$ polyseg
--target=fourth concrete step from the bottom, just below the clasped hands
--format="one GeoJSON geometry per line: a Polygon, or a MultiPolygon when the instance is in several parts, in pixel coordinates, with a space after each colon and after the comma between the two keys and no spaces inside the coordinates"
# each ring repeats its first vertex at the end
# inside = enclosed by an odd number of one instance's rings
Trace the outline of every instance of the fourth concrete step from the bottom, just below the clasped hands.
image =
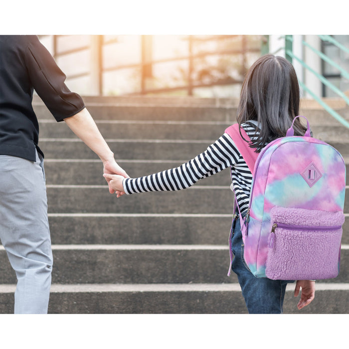
{"type": "MultiPolygon", "coordinates": [[[[204,179],[202,179],[204,180],[204,179]]],[[[344,212],[349,212],[349,186],[344,212]]],[[[226,186],[195,184],[178,191],[124,195],[107,185],[47,185],[49,213],[231,213],[232,192],[226,186]],[[103,203],[103,204],[101,204],[103,203]],[[213,204],[214,203],[214,204],[213,204]]]]}

